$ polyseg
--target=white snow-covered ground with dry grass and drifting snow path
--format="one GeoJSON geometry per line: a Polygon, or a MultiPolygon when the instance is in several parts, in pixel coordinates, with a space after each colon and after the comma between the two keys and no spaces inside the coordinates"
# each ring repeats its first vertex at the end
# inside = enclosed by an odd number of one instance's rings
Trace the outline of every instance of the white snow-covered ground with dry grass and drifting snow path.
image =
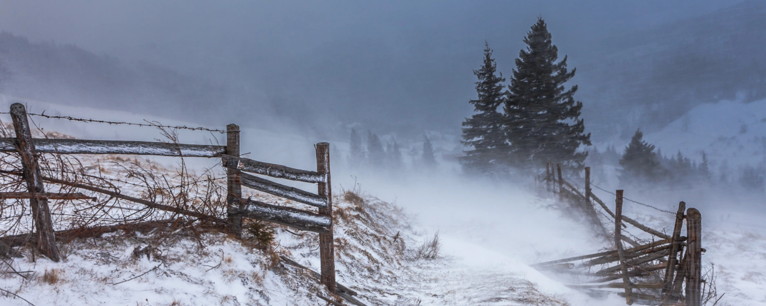
{"type": "MultiPolygon", "coordinates": [[[[7,109],[9,104],[8,99],[0,99],[0,108],[7,109]]],[[[29,112],[45,110],[51,115],[126,122],[148,119],[165,125],[195,126],[159,117],[34,101],[28,101],[28,109],[29,112]]],[[[756,112],[758,110],[742,113],[756,112]]],[[[160,138],[151,128],[35,120],[44,129],[77,138],[146,141],[160,138]]],[[[748,132],[754,132],[760,123],[750,124],[748,132]]],[[[221,135],[215,133],[181,131],[180,136],[185,143],[205,144],[214,138],[222,141],[221,135]]],[[[647,135],[648,140],[660,142],[650,137],[655,136],[647,135]]],[[[743,139],[742,142],[749,143],[743,139]]],[[[324,140],[316,135],[295,135],[289,131],[243,129],[241,143],[242,151],[250,152],[249,158],[313,168],[313,144],[324,140]]],[[[346,144],[333,144],[331,150],[341,151],[336,154],[342,157],[345,148],[346,144]]],[[[667,148],[675,149],[670,145],[667,148]]],[[[711,158],[717,158],[713,150],[708,153],[711,158]]],[[[153,159],[167,168],[176,165],[172,158],[153,159]]],[[[192,161],[191,166],[215,162],[201,159],[192,161]]],[[[529,191],[530,186],[460,178],[454,175],[448,161],[442,162],[440,170],[401,177],[357,175],[344,168],[342,161],[334,164],[336,217],[341,220],[336,227],[339,282],[358,291],[358,298],[365,304],[598,306],[624,303],[624,299],[616,296],[597,300],[582,295],[529,267],[533,262],[583,255],[607,246],[588,226],[550,208],[552,202],[538,198],[529,191]],[[359,185],[361,202],[344,197],[342,190],[356,190],[359,185]],[[345,213],[345,217],[337,216],[340,212],[345,213]],[[437,231],[442,243],[441,256],[433,260],[415,259],[417,247],[437,231]]],[[[609,199],[607,194],[599,195],[609,199]]],[[[257,196],[275,200],[263,194],[257,196]]],[[[677,203],[675,199],[659,203],[644,196],[635,194],[633,198],[653,201],[666,210],[673,210],[677,203]]],[[[635,219],[659,228],[671,224],[669,216],[662,213],[641,207],[626,207],[626,211],[633,213],[635,219]]],[[[766,233],[759,222],[760,216],[725,209],[702,210],[702,214],[704,241],[710,244],[705,246],[708,252],[703,259],[715,263],[719,294],[726,293],[719,305],[766,305],[766,265],[763,264],[766,233]]],[[[289,265],[278,265],[273,253],[252,249],[247,243],[208,233],[202,236],[201,245],[193,237],[179,237],[166,242],[155,256],[136,258],[133,250],[146,246],[140,238],[73,242],[65,246],[67,258],[61,263],[40,258],[31,262],[25,251],[26,257],[15,259],[13,265],[17,271],[34,271],[34,276],[24,280],[12,273],[2,275],[0,288],[36,305],[325,304],[316,297],[317,294],[327,296],[325,291],[308,275],[289,265]],[[45,282],[45,272],[50,274],[54,269],[61,272],[61,281],[45,282]],[[123,282],[149,270],[152,271],[146,275],[123,282]],[[116,284],[118,282],[123,283],[116,284]]],[[[279,246],[274,252],[289,255],[315,270],[319,267],[316,235],[295,236],[280,229],[277,243],[279,246]]],[[[26,304],[2,294],[0,301],[4,305],[26,304]]]]}

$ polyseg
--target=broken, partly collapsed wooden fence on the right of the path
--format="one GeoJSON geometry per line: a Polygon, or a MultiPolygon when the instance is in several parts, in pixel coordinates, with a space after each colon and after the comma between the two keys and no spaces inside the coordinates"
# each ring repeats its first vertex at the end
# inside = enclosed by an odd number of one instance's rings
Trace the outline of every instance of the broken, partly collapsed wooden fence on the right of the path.
{"type": "Polygon", "coordinates": [[[591,295],[607,295],[617,288],[623,291],[618,295],[626,298],[626,304],[687,305],[702,304],[702,215],[699,210],[689,208],[680,202],[675,213],[673,233],[667,235],[623,214],[624,191],[616,190],[614,212],[591,190],[591,168],[585,168],[584,190],[569,183],[561,175],[561,165],[556,165],[558,178],[552,171],[552,164],[546,166],[545,189],[558,194],[558,199],[566,200],[584,211],[586,216],[595,216],[591,222],[604,228],[596,215],[599,208],[607,220],[614,221],[614,233],[604,231],[605,236],[613,239],[614,249],[606,252],[540,262],[532,265],[535,269],[576,275],[584,282],[568,285],[587,291],[591,295]],[[558,188],[557,188],[558,187],[558,188]],[[558,190],[557,190],[558,189],[558,190]],[[596,207],[593,200],[599,205],[596,207]],[[684,213],[686,211],[686,214],[684,213]],[[686,236],[681,236],[686,220],[686,236]],[[653,236],[651,243],[638,243],[624,235],[623,229],[635,226],[653,236]],[[624,249],[623,243],[632,247],[624,249]],[[593,272],[596,267],[600,267],[593,272]],[[615,282],[616,281],[616,282],[615,282]]]}

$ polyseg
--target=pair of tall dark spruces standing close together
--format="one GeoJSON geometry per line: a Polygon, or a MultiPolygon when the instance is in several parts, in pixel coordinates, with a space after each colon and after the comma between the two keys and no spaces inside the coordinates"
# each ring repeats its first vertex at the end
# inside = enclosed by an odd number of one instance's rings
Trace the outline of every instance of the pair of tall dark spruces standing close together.
{"type": "Polygon", "coordinates": [[[477,99],[470,100],[474,114],[463,122],[465,156],[460,163],[468,172],[535,172],[545,163],[569,170],[583,167],[591,145],[580,119],[583,104],[574,98],[578,87],[564,86],[575,69],[567,57],[558,60],[558,48],[542,18],[524,37],[516,68],[508,78],[497,71],[493,50],[485,43],[483,65],[473,73],[477,99]]]}

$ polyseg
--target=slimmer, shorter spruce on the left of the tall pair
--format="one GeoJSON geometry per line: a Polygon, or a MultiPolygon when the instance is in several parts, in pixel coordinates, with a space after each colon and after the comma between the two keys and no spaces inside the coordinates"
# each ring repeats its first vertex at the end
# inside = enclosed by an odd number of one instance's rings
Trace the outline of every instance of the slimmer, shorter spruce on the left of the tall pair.
{"type": "Polygon", "coordinates": [[[469,148],[465,156],[460,157],[460,164],[467,171],[486,173],[496,169],[504,162],[506,155],[506,135],[502,128],[502,113],[498,107],[504,102],[505,96],[502,83],[506,81],[502,73],[497,73],[497,64],[492,58],[493,50],[484,42],[484,63],[473,74],[479,79],[476,82],[477,99],[470,100],[475,112],[471,118],[463,121],[463,140],[460,141],[469,148]]]}

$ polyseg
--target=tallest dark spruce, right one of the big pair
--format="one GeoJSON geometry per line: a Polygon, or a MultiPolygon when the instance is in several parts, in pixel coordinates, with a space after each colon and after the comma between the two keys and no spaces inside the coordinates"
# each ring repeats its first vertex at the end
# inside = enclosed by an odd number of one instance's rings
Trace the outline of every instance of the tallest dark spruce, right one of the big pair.
{"type": "Polygon", "coordinates": [[[577,149],[591,145],[591,134],[584,134],[585,125],[579,119],[582,103],[574,98],[578,86],[564,87],[575,77],[575,69],[567,70],[567,57],[556,63],[558,48],[542,18],[532,25],[524,42],[527,47],[516,59],[503,108],[509,163],[522,169],[542,168],[547,161],[582,168],[588,152],[577,149]]]}

